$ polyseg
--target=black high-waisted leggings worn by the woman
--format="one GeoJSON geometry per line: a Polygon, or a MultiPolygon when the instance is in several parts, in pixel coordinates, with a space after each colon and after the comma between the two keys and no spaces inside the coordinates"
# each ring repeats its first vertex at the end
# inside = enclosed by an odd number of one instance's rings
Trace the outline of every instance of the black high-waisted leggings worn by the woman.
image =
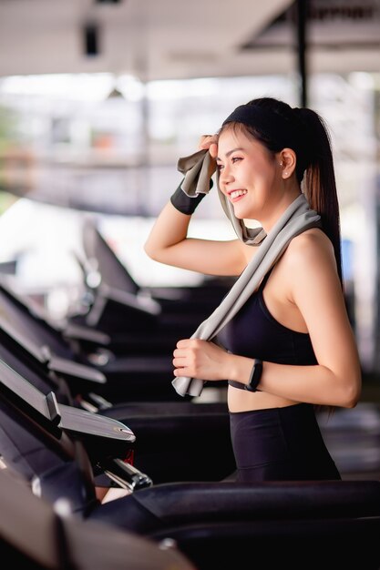
{"type": "Polygon", "coordinates": [[[230,412],[237,481],[341,479],[312,404],[230,412]]]}

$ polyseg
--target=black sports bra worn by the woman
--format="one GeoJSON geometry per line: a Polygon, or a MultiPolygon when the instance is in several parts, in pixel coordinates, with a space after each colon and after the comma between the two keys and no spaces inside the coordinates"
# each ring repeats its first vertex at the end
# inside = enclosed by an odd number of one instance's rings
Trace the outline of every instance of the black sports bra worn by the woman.
{"type": "Polygon", "coordinates": [[[271,271],[265,275],[259,289],[219,332],[217,340],[233,354],[249,358],[278,364],[316,364],[310,335],[283,326],[265,305],[262,291],[271,271]]]}

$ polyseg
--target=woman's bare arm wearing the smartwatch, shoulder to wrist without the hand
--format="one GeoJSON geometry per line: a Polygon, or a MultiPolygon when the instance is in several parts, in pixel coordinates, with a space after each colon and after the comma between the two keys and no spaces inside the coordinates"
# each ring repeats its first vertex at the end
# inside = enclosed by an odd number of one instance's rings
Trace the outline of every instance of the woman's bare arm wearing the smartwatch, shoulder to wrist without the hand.
{"type": "MultiPolygon", "coordinates": [[[[283,286],[303,315],[318,364],[264,362],[259,389],[296,402],[354,407],[361,393],[361,366],[331,242],[322,232],[305,232],[291,242],[282,270],[283,286]]],[[[247,382],[247,362],[234,365],[232,373],[247,382]]]]}

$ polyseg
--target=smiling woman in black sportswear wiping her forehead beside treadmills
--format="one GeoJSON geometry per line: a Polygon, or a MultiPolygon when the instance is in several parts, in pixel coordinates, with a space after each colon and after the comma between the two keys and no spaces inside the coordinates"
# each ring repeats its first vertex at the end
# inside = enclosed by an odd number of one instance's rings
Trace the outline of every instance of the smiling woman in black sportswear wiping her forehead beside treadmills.
{"type": "MultiPolygon", "coordinates": [[[[237,219],[258,220],[268,234],[303,193],[322,227],[290,241],[217,343],[178,341],[174,375],[229,380],[239,481],[339,479],[315,407],[354,407],[361,369],[344,304],[334,164],[323,119],[308,108],[255,99],[237,107],[218,135],[201,137],[200,149],[216,162],[220,191],[237,219]]],[[[258,248],[240,239],[188,238],[199,202],[178,188],[146,252],[179,268],[239,276],[258,248]]]]}

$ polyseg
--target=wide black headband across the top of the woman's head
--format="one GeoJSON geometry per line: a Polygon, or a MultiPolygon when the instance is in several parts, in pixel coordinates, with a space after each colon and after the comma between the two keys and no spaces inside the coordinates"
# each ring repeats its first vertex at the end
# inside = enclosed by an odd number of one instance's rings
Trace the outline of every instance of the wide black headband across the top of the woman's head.
{"type": "Polygon", "coordinates": [[[222,127],[228,123],[242,123],[247,127],[253,127],[264,138],[276,142],[279,150],[282,148],[293,148],[297,152],[302,148],[298,121],[295,116],[294,124],[291,124],[282,115],[273,112],[267,107],[241,105],[236,107],[231,115],[223,121],[222,127]]]}

